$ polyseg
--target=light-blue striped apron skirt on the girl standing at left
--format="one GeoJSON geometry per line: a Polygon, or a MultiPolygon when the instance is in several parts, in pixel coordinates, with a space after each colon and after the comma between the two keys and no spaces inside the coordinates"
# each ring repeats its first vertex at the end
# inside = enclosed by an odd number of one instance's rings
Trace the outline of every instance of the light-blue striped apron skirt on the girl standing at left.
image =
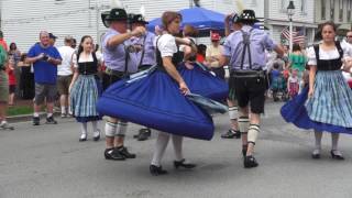
{"type": "Polygon", "coordinates": [[[69,95],[70,109],[78,122],[101,120],[96,107],[101,92],[101,84],[95,75],[78,76],[69,95]]]}

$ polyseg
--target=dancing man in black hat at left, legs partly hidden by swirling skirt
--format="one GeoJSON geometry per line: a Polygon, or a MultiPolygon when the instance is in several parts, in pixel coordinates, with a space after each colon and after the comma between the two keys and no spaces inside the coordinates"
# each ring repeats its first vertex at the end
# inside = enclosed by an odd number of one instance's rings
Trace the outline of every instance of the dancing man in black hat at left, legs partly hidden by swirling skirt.
{"type": "MultiPolygon", "coordinates": [[[[103,59],[106,72],[103,74],[103,89],[120,80],[129,74],[138,72],[135,53],[130,53],[132,36],[145,34],[145,29],[139,26],[133,31],[128,31],[128,14],[124,9],[114,8],[110,12],[101,14],[103,24],[109,28],[102,37],[103,59]]],[[[118,118],[109,118],[106,123],[105,157],[107,160],[121,161],[135,158],[135,154],[130,153],[124,146],[124,134],[128,122],[118,118]]]]}

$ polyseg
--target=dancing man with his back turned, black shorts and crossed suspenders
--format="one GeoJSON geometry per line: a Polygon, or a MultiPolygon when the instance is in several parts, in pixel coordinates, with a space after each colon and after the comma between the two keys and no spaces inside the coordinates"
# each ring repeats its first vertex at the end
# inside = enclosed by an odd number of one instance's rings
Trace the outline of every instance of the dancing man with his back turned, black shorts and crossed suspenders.
{"type": "Polygon", "coordinates": [[[258,165],[253,152],[267,89],[264,50],[274,50],[279,55],[284,51],[264,31],[252,28],[257,22],[253,10],[243,10],[239,20],[243,26],[227,37],[221,65],[229,64],[231,68],[230,81],[234,84],[240,107],[243,163],[245,168],[251,168],[258,165]]]}

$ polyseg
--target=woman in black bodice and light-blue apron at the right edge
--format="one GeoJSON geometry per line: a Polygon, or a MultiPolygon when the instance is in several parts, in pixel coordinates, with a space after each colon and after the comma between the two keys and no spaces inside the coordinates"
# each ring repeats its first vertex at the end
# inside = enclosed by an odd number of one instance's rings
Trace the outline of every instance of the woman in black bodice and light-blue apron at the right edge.
{"type": "MultiPolygon", "coordinates": [[[[282,108],[283,118],[302,129],[314,129],[316,147],[312,158],[320,158],[322,131],[331,133],[331,157],[344,160],[338,148],[340,133],[352,134],[352,91],[343,79],[341,67],[349,48],[334,41],[336,25],[321,25],[322,43],[307,52],[309,85],[282,108]]],[[[344,69],[349,63],[345,62],[344,69]]]]}

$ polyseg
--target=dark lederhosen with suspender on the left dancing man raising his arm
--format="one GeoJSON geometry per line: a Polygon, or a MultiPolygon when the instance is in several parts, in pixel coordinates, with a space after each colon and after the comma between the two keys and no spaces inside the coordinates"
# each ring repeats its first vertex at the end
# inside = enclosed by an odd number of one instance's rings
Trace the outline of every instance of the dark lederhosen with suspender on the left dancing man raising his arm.
{"type": "Polygon", "coordinates": [[[119,81],[120,79],[129,76],[128,73],[128,64],[130,58],[130,52],[128,47],[124,44],[121,44],[124,46],[124,72],[120,70],[113,70],[107,67],[106,72],[102,74],[102,88],[106,90],[110,85],[114,84],[116,81],[119,81]]]}

